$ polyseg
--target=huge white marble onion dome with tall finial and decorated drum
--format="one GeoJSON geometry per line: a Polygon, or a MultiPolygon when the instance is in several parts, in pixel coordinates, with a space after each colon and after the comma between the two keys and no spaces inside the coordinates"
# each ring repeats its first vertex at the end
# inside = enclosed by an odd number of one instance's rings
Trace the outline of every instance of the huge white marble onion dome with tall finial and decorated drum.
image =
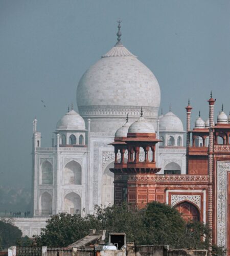
{"type": "MultiPolygon", "coordinates": [[[[120,28],[119,28],[120,32],[120,28]]],[[[126,114],[133,121],[144,116],[156,122],[159,84],[153,73],[120,42],[91,66],[77,88],[79,114],[91,119],[91,131],[114,132],[126,114]],[[109,130],[109,131],[108,131],[109,130]]]]}

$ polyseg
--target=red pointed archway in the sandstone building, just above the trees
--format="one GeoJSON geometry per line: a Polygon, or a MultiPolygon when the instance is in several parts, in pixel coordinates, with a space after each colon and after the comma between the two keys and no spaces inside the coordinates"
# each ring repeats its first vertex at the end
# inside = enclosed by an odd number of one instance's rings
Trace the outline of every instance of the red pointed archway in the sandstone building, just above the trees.
{"type": "Polygon", "coordinates": [[[200,221],[200,212],[196,205],[191,202],[183,201],[174,206],[182,215],[182,218],[189,221],[200,221]]]}

